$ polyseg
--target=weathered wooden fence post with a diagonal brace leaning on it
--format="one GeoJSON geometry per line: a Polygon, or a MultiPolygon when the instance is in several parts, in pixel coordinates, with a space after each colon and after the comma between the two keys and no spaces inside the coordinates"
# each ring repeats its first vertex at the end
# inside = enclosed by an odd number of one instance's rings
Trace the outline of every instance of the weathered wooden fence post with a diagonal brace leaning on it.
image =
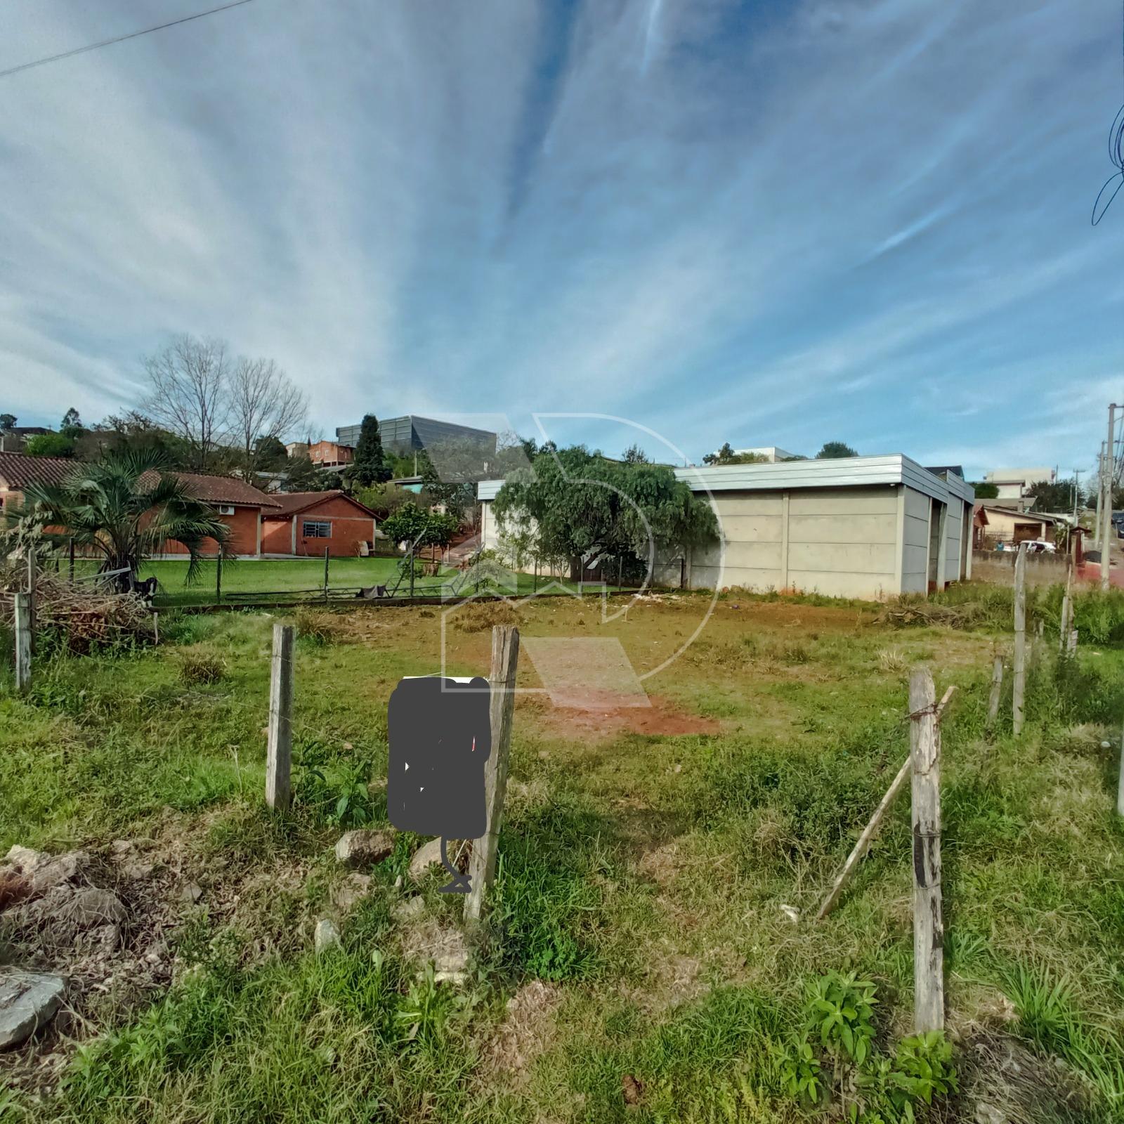
{"type": "Polygon", "coordinates": [[[941,917],[941,732],[933,677],[909,677],[913,762],[914,1031],[944,1030],[944,923],[941,917]]]}

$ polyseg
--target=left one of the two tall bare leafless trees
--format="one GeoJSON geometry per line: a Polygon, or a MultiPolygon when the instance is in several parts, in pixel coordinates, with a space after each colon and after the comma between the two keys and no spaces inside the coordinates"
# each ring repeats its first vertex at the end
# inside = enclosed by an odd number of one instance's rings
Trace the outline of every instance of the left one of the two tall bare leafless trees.
{"type": "Polygon", "coordinates": [[[149,391],[143,409],[187,442],[192,466],[206,471],[230,414],[230,368],[221,339],[176,336],[144,361],[149,391]]]}

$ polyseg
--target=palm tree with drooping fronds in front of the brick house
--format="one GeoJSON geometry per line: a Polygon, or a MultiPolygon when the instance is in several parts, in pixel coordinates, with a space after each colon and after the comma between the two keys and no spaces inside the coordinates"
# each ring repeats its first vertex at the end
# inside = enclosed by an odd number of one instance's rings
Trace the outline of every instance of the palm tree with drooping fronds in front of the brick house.
{"type": "Polygon", "coordinates": [[[229,527],[165,468],[155,450],[125,450],[76,464],[61,484],[27,486],[20,523],[58,528],[55,533],[75,546],[99,552],[102,572],[127,568],[117,580],[121,589],[132,588],[149,554],[164,543],[180,543],[188,551],[188,581],[193,581],[203,543],[210,538],[225,553],[229,527]]]}

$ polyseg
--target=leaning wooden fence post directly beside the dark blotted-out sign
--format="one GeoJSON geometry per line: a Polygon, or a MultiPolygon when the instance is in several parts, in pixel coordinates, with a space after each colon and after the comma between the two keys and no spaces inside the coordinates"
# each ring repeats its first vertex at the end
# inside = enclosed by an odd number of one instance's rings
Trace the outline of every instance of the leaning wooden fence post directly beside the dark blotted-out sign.
{"type": "Polygon", "coordinates": [[[515,711],[515,674],[519,664],[519,629],[511,625],[492,628],[491,754],[484,764],[484,807],[488,827],[472,847],[469,874],[472,888],[464,899],[464,919],[480,921],[484,892],[496,877],[499,826],[507,792],[507,762],[511,752],[511,722],[515,711]]]}

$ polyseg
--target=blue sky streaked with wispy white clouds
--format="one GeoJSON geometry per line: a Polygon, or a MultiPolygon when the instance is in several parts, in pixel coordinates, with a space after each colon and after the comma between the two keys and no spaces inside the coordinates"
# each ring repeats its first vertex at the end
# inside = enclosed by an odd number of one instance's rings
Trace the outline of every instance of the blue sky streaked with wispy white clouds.
{"type": "MultiPolygon", "coordinates": [[[[215,2],[3,0],[0,70],[215,2]]],[[[1109,0],[253,0],[0,79],[0,411],[135,406],[187,332],[326,435],[1088,471],[1122,99],[1109,0]]]]}

